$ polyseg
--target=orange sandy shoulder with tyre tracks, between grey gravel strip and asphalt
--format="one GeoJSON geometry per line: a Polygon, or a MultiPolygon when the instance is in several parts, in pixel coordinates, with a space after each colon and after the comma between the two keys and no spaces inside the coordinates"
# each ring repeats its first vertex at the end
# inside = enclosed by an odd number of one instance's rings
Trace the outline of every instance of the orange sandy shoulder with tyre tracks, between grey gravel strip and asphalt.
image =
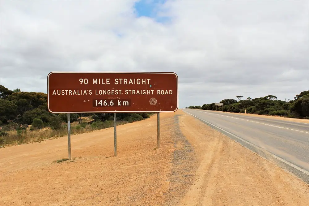
{"type": "Polygon", "coordinates": [[[184,113],[181,131],[199,167],[181,205],[308,205],[309,186],[184,113]]]}

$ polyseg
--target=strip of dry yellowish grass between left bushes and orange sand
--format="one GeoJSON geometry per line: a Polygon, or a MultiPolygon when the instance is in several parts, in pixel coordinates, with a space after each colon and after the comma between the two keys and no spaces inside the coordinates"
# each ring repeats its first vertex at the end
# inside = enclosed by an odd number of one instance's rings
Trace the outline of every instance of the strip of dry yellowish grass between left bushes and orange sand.
{"type": "MultiPolygon", "coordinates": [[[[117,121],[117,125],[122,125],[129,123],[128,121],[117,121]]],[[[100,130],[108,127],[113,127],[113,121],[106,122],[94,122],[92,124],[87,124],[87,122],[82,122],[78,124],[78,122],[71,123],[71,134],[81,134],[85,132],[91,132],[95,130],[100,130]]],[[[9,146],[16,144],[27,144],[31,142],[44,141],[44,139],[52,139],[58,138],[68,135],[67,124],[63,124],[62,128],[59,130],[53,130],[51,128],[45,127],[42,130],[33,130],[29,131],[22,130],[21,131],[7,131],[6,136],[0,136],[0,145],[9,146]]]]}

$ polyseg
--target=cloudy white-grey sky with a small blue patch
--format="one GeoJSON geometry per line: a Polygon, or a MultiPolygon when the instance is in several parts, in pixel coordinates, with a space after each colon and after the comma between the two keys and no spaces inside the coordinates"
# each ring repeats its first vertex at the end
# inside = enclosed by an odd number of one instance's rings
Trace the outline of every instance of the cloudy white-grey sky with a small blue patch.
{"type": "Polygon", "coordinates": [[[175,72],[179,108],[309,90],[309,1],[0,2],[0,85],[51,71],[175,72]]]}

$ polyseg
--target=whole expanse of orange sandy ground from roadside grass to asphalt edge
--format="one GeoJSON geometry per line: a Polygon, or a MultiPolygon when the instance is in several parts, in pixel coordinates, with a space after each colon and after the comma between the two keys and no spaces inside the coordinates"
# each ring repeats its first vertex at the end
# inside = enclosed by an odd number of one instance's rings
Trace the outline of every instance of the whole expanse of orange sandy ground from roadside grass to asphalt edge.
{"type": "Polygon", "coordinates": [[[0,205],[309,205],[309,186],[181,110],[0,149],[0,205]]]}

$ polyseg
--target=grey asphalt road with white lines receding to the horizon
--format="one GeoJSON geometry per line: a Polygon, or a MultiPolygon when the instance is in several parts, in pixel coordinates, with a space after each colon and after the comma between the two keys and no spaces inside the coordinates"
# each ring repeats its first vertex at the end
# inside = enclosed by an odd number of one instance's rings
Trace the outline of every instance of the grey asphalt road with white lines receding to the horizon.
{"type": "Polygon", "coordinates": [[[208,110],[183,111],[232,138],[269,152],[308,178],[309,124],[208,110]]]}

